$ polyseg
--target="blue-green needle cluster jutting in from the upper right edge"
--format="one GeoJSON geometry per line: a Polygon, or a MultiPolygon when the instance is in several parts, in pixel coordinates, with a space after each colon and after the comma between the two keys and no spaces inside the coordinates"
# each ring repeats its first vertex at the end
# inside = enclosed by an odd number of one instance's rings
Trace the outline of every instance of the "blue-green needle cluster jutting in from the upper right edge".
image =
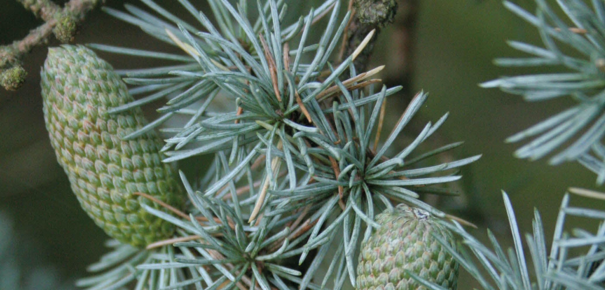
{"type": "Polygon", "coordinates": [[[508,67],[555,67],[558,73],[503,76],[484,82],[482,87],[498,87],[537,102],[570,97],[574,106],[506,139],[531,142],[515,151],[519,158],[540,159],[550,153],[553,165],[578,161],[605,182],[605,4],[600,0],[558,0],[558,8],[567,16],[561,19],[545,0],[535,0],[530,13],[505,1],[508,10],[536,27],[543,47],[509,41],[512,48],[529,54],[526,58],[500,58],[497,65],[508,67]],[[569,50],[571,48],[571,50],[569,50]],[[572,51],[567,53],[564,51],[572,51]],[[567,143],[571,143],[566,145],[567,143]]]}

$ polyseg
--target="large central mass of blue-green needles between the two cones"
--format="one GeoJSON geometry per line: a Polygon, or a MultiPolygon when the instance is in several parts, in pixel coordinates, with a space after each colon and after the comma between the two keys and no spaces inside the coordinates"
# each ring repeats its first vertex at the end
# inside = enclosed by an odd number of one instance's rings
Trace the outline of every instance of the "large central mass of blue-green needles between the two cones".
{"type": "MultiPolygon", "coordinates": [[[[339,15],[340,1],[325,1],[290,25],[283,23],[288,7],[281,1],[234,5],[214,0],[208,2],[211,11],[206,15],[191,2],[179,0],[197,24],[182,21],[151,0],[142,2],[145,9],[127,4],[126,12],[105,11],[183,53],[88,45],[128,57],[174,62],[117,70],[131,85],[129,90],[124,91],[119,82],[100,88],[136,97],[111,102],[103,117],[125,116],[128,123],[128,116],[142,105],[165,102],[157,108],[157,119],[119,130],[120,140],[115,141],[129,144],[159,130],[166,142],[159,148],[163,162],[199,155],[212,156],[212,162],[187,174],[197,176],[195,180],[180,173],[188,197],[185,208],[153,193],[137,193],[140,209],[174,225],[174,234],[144,239],[143,250],[114,236],[118,241],[108,243],[113,251],[90,267],[99,274],[80,280],[80,286],[341,289],[347,280],[355,286],[359,244],[380,226],[374,221],[376,209],[406,202],[444,217],[419,200],[419,193],[451,194],[440,183],[459,179],[456,168],[480,157],[431,164],[431,156],[460,142],[418,152],[420,143],[448,114],[429,122],[410,143],[393,146],[427,99],[424,92],[416,94],[381,142],[384,105],[401,87],[387,88],[373,78],[382,67],[356,71],[353,65],[374,31],[352,54],[335,60],[351,17],[350,12],[339,15]],[[327,23],[318,30],[323,32],[317,42],[311,42],[310,31],[322,18],[327,23]],[[178,124],[175,119],[185,121],[178,124]],[[324,273],[318,271],[322,263],[327,265],[324,273]]],[[[75,50],[74,58],[80,54],[93,58],[86,48],[64,47],[53,48],[49,59],[62,50],[75,50]]],[[[89,71],[94,68],[85,65],[76,70],[88,76],[98,74],[89,71]]],[[[113,80],[113,70],[103,69],[100,77],[111,75],[113,80]]],[[[59,82],[54,75],[47,79],[43,87],[59,82]]],[[[77,77],[69,83],[91,85],[77,77]]],[[[64,86],[56,87],[57,94],[65,93],[60,91],[64,86]]],[[[47,110],[51,108],[50,104],[47,110]]],[[[49,123],[65,125],[60,115],[50,114],[56,120],[49,123]]],[[[57,143],[57,151],[68,150],[68,145],[57,143]]],[[[77,178],[71,182],[80,189],[77,178]]],[[[111,226],[107,231],[113,232],[111,226]]]]}

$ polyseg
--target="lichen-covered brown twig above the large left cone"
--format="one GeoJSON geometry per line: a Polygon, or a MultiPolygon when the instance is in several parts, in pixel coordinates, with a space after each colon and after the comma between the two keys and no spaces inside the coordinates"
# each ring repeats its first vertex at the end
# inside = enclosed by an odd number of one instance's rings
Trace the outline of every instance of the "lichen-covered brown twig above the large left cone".
{"type": "Polygon", "coordinates": [[[36,45],[48,41],[51,33],[60,42],[73,41],[77,27],[86,13],[104,0],[71,0],[60,8],[50,0],[17,0],[44,24],[34,28],[23,39],[0,46],[0,85],[6,90],[16,90],[25,81],[27,72],[21,67],[25,53],[36,45]]]}

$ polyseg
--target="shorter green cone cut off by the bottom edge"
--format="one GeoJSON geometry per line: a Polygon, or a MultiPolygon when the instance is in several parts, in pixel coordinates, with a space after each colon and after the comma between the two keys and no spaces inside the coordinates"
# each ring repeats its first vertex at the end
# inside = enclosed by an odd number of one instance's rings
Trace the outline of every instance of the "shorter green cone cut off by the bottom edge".
{"type": "Polygon", "coordinates": [[[427,211],[400,204],[376,216],[381,225],[362,246],[358,290],[426,290],[405,270],[447,289],[456,289],[458,263],[433,234],[456,248],[451,232],[427,211]]]}

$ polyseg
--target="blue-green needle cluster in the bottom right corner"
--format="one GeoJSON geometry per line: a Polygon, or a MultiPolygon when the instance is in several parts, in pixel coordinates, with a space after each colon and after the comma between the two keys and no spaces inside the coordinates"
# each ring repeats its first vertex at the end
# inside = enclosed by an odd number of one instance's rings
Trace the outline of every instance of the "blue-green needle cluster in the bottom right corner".
{"type": "MultiPolygon", "coordinates": [[[[595,204],[605,200],[604,193],[587,189],[570,188],[569,193],[594,199],[595,204]]],[[[454,231],[464,248],[457,251],[441,240],[460,265],[486,290],[602,290],[605,289],[605,211],[601,208],[578,208],[570,205],[566,193],[554,228],[552,245],[546,245],[546,237],[540,213],[534,209],[533,232],[525,234],[525,246],[508,194],[502,192],[514,247],[504,249],[494,234],[488,230],[491,248],[483,245],[457,222],[443,225],[454,231]],[[566,219],[585,219],[584,225],[598,222],[596,230],[569,229],[566,219]],[[526,249],[529,249],[529,258],[526,249]],[[459,253],[460,252],[460,253],[459,253]],[[470,254],[469,254],[470,252],[470,254]],[[472,254],[472,255],[471,255],[472,254]]],[[[437,239],[440,239],[437,237],[437,239]]],[[[414,275],[414,274],[411,274],[414,275]]],[[[446,290],[439,285],[419,279],[431,290],[446,290]]]]}

